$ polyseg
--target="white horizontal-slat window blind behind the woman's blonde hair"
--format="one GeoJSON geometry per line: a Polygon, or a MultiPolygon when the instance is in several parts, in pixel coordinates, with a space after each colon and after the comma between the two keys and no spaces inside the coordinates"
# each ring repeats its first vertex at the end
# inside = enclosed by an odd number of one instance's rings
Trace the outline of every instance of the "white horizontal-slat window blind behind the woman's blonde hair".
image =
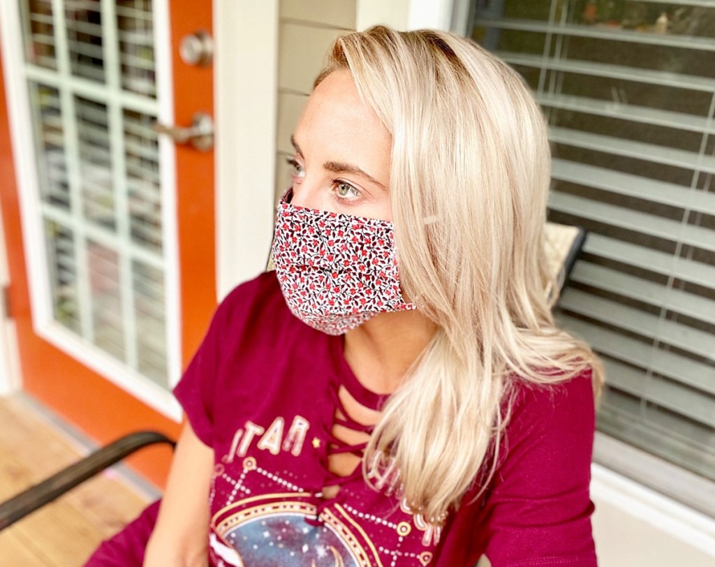
{"type": "Polygon", "coordinates": [[[715,1],[478,0],[470,21],[546,114],[550,220],[588,230],[557,316],[606,366],[598,428],[715,480],[715,1]]]}

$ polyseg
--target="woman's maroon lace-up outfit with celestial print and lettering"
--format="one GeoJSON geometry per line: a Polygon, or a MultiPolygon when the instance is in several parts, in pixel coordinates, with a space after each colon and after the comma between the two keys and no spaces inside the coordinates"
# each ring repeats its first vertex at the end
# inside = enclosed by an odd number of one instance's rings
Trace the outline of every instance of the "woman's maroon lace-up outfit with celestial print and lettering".
{"type": "MultiPolygon", "coordinates": [[[[384,401],[352,374],[342,340],[291,315],[272,272],[218,308],[174,390],[215,453],[210,565],[455,567],[482,554],[493,567],[596,565],[590,373],[548,387],[516,380],[493,480],[480,498],[475,486],[436,531],[395,495],[370,488],[359,468],[335,498],[321,495],[335,482],[327,455],[338,390],[370,408],[384,401]]],[[[154,516],[152,508],[89,565],[132,565],[102,557],[134,553],[122,551],[122,538],[143,555],[137,532],[154,516]]]]}

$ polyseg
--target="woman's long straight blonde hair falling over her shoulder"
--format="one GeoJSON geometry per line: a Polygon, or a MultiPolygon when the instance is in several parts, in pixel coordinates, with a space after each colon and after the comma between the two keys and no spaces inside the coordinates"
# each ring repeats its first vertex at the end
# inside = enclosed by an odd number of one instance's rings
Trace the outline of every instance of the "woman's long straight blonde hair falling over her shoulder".
{"type": "Polygon", "coordinates": [[[381,484],[398,471],[408,508],[440,523],[476,478],[485,488],[514,380],[557,383],[590,367],[598,391],[601,366],[551,315],[551,157],[521,77],[459,36],[384,26],[337,39],[316,84],[337,69],[392,135],[400,280],[438,325],[383,408],[363,471],[381,484]]]}

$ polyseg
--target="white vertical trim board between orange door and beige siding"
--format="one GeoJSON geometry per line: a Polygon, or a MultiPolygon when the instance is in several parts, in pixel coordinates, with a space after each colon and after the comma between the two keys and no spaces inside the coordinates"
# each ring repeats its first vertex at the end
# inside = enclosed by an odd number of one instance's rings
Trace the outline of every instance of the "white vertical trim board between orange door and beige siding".
{"type": "Polygon", "coordinates": [[[219,299],[265,270],[272,239],[278,1],[214,0],[219,299]]]}

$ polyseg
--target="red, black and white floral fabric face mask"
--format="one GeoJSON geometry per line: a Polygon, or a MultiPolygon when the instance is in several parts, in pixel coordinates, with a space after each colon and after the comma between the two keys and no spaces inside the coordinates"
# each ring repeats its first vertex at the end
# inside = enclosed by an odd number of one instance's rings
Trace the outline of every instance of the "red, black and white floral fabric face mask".
{"type": "Polygon", "coordinates": [[[293,315],[342,335],[374,315],[414,309],[400,292],[393,224],[278,205],[273,261],[293,315]]]}

